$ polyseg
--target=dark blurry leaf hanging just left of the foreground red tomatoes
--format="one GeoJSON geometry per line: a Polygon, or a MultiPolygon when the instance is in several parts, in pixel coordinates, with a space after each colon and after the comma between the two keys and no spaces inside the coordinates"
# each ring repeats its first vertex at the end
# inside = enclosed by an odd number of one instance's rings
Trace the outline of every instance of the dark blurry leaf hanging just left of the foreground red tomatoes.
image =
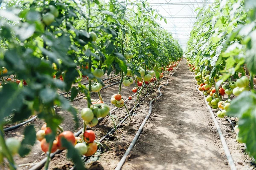
{"type": "Polygon", "coordinates": [[[36,132],[33,125],[29,125],[24,130],[24,138],[21,142],[21,147],[19,150],[19,155],[21,157],[26,156],[30,150],[31,146],[35,144],[36,132]]]}

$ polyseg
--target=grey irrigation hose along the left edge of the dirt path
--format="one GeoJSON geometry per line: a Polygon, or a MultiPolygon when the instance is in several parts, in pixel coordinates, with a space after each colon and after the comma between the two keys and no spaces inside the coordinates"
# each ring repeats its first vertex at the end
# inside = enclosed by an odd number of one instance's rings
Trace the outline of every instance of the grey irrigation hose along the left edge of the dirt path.
{"type": "MultiPolygon", "coordinates": [[[[177,68],[175,69],[175,71],[172,73],[172,75],[176,72],[177,69],[178,69],[178,66],[177,66],[177,68]]],[[[171,77],[172,77],[172,75],[171,75],[171,77]]],[[[143,121],[142,124],[140,125],[139,130],[137,131],[136,135],[134,136],[134,138],[133,138],[133,140],[132,140],[130,146],[129,146],[128,149],[126,150],[124,156],[122,157],[122,159],[121,159],[121,160],[119,161],[119,163],[117,164],[115,170],[121,170],[123,164],[125,163],[125,160],[126,160],[127,156],[130,154],[132,148],[134,147],[136,141],[138,140],[138,138],[139,138],[139,136],[140,136],[140,133],[141,133],[142,130],[143,130],[143,126],[145,125],[146,121],[148,121],[148,118],[149,118],[150,115],[151,115],[151,112],[152,112],[152,103],[153,103],[157,98],[160,98],[160,97],[162,96],[162,92],[161,92],[160,89],[161,89],[161,87],[168,85],[170,79],[171,79],[171,78],[169,78],[169,79],[167,80],[167,83],[166,83],[166,84],[164,84],[164,85],[158,87],[159,95],[158,95],[156,98],[154,98],[153,100],[150,101],[150,103],[149,103],[148,115],[145,117],[144,121],[143,121]]]]}

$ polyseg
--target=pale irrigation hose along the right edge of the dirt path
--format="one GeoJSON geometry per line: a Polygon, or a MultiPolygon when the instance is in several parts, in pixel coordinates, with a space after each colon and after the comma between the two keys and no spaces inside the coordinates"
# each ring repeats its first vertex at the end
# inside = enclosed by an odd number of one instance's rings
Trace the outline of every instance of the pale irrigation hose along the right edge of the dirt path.
{"type": "MultiPolygon", "coordinates": [[[[204,94],[198,89],[198,86],[196,86],[195,89],[196,89],[198,92],[200,92],[201,95],[204,96],[204,94]]],[[[207,108],[209,109],[209,112],[210,112],[211,115],[212,115],[212,119],[213,119],[213,121],[214,121],[215,127],[216,127],[216,129],[218,130],[218,134],[219,134],[219,136],[220,136],[221,143],[222,143],[222,146],[223,146],[223,148],[224,148],[224,152],[225,152],[225,154],[226,154],[226,156],[227,156],[227,161],[228,161],[228,164],[230,165],[230,169],[231,169],[231,170],[236,170],[236,165],[235,165],[234,160],[233,160],[233,158],[232,158],[232,156],[231,156],[231,154],[230,154],[230,151],[229,151],[229,149],[228,149],[228,146],[227,146],[227,143],[226,143],[226,141],[225,141],[224,135],[223,135],[223,133],[222,133],[222,131],[221,131],[221,128],[220,128],[220,126],[219,126],[219,124],[218,124],[217,119],[215,118],[214,113],[212,112],[211,107],[210,107],[210,106],[208,105],[208,103],[207,103],[207,100],[206,100],[206,97],[205,97],[205,96],[204,96],[204,101],[205,101],[205,104],[207,105],[207,108]]]]}

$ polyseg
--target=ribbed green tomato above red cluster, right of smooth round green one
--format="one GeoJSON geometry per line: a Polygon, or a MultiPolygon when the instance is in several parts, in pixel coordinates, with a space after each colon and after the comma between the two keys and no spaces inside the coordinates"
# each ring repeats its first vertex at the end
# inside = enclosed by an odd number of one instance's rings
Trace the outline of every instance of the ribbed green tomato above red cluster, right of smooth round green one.
{"type": "Polygon", "coordinates": [[[109,114],[110,107],[108,104],[100,103],[93,104],[90,109],[93,110],[93,114],[96,118],[106,117],[109,114]]]}

